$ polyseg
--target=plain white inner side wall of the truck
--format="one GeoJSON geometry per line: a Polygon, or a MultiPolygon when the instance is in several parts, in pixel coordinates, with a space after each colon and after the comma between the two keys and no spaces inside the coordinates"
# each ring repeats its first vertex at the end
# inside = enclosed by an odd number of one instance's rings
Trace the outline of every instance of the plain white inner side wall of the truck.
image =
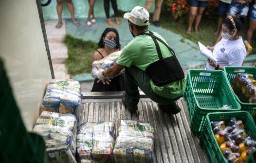
{"type": "Polygon", "coordinates": [[[30,131],[51,79],[36,0],[0,0],[0,58],[30,131]]]}

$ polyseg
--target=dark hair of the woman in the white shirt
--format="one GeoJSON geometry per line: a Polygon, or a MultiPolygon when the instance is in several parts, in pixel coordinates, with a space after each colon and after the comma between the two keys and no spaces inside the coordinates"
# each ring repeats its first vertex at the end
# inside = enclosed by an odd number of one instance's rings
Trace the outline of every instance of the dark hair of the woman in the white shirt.
{"type": "MultiPolygon", "coordinates": [[[[232,16],[232,17],[238,30],[237,35],[240,35],[242,26],[246,22],[246,17],[245,16],[232,16]]],[[[229,18],[224,19],[222,24],[225,25],[229,29],[229,31],[232,31],[233,29],[235,29],[229,18]]]]}

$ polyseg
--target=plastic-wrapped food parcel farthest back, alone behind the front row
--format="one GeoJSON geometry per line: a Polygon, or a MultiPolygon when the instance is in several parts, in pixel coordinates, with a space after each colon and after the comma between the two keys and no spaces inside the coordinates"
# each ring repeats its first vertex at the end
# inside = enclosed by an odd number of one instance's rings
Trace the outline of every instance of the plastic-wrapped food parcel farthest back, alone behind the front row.
{"type": "Polygon", "coordinates": [[[42,111],[75,114],[81,103],[80,83],[74,80],[52,79],[40,107],[42,111]]]}

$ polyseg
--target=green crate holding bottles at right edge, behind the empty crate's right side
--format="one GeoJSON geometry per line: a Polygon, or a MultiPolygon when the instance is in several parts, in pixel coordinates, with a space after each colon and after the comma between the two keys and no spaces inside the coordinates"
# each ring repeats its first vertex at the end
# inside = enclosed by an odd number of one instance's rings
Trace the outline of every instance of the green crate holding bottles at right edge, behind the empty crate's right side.
{"type": "MultiPolygon", "coordinates": [[[[225,66],[224,72],[226,73],[226,76],[228,78],[229,83],[233,81],[236,74],[238,73],[247,73],[247,74],[253,74],[254,79],[256,79],[256,67],[232,67],[232,66],[225,66]]],[[[247,111],[250,114],[252,114],[254,121],[256,121],[256,104],[250,104],[250,103],[243,103],[239,100],[238,96],[234,93],[236,99],[238,100],[239,104],[241,105],[241,110],[247,111]]]]}

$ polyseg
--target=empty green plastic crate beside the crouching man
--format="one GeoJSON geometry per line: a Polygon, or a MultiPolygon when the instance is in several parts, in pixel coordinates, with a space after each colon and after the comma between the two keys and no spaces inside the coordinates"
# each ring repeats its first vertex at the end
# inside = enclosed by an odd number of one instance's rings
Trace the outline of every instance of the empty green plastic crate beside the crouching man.
{"type": "Polygon", "coordinates": [[[184,97],[191,119],[190,130],[195,134],[200,134],[206,114],[240,110],[225,73],[220,70],[189,70],[184,97]],[[223,105],[231,108],[219,109],[223,105]]]}

